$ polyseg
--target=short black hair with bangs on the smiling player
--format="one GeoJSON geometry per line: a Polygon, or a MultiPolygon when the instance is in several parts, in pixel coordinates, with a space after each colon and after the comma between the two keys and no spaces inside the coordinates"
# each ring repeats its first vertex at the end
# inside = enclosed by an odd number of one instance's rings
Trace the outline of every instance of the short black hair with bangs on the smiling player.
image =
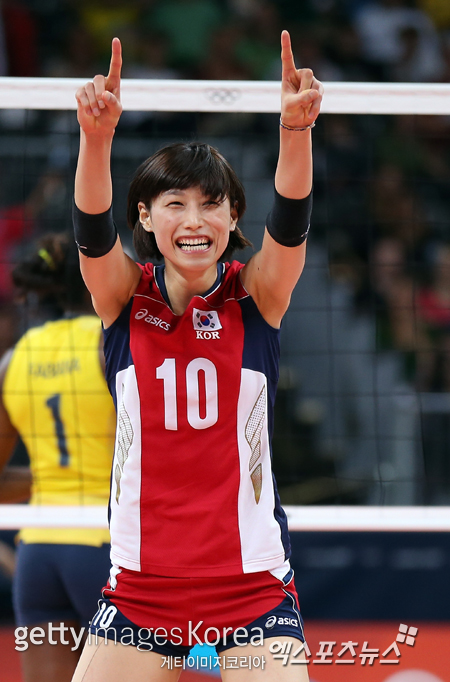
{"type": "MultiPolygon", "coordinates": [[[[198,187],[212,199],[228,197],[238,219],[246,208],[245,192],[236,173],[217,149],[200,142],[175,142],[146,159],[137,169],[128,192],[127,221],[133,230],[136,253],[142,260],[161,259],[162,254],[153,232],[147,232],[139,220],[138,203],[150,210],[152,201],[170,189],[198,187]]],[[[221,260],[228,260],[236,249],[245,249],[251,242],[236,227],[230,232],[228,246],[221,260]]]]}

